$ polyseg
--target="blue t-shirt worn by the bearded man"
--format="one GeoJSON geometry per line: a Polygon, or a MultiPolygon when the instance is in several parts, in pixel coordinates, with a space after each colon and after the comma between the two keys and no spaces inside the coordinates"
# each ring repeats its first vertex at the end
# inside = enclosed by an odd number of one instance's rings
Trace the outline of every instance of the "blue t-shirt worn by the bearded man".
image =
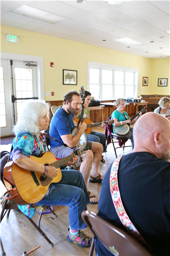
{"type": "MultiPolygon", "coordinates": [[[[61,135],[71,134],[73,128],[73,115],[68,114],[62,107],[58,108],[50,122],[49,135],[61,143],[64,143],[61,139],[61,135]]],[[[50,146],[52,148],[61,146],[61,143],[50,139],[50,146]]]]}

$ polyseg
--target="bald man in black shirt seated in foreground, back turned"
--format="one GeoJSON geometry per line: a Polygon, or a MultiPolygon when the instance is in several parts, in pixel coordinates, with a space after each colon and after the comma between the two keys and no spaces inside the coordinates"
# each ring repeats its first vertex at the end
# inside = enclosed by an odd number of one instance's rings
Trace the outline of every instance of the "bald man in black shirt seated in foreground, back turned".
{"type": "MultiPolygon", "coordinates": [[[[134,125],[134,150],[121,158],[118,186],[131,222],[156,256],[170,255],[170,122],[150,112],[134,125]]],[[[105,174],[98,203],[99,217],[127,231],[115,210],[105,174]]],[[[122,245],[123,246],[123,245],[122,245]]],[[[96,238],[96,256],[112,255],[96,238]]],[[[116,244],[115,244],[116,249],[116,244]]]]}

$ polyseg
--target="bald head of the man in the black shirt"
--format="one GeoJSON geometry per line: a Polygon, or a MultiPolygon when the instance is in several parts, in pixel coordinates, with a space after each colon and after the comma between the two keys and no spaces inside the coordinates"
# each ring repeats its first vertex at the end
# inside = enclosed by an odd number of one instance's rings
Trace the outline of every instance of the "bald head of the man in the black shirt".
{"type": "Polygon", "coordinates": [[[154,112],[141,116],[134,125],[133,138],[134,151],[148,151],[159,158],[169,158],[170,122],[164,116],[154,112]]]}

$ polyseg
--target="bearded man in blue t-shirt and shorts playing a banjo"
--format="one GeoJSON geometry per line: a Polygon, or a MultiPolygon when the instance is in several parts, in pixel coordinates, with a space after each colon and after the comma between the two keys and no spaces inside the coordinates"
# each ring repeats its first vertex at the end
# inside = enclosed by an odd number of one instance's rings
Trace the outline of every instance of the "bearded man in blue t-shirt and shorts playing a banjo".
{"type": "MultiPolygon", "coordinates": [[[[49,135],[61,143],[50,139],[50,150],[57,158],[68,156],[72,151],[72,149],[64,147],[62,143],[65,143],[71,148],[75,147],[81,138],[81,135],[87,129],[87,125],[85,123],[80,123],[78,126],[78,132],[72,136],[72,130],[74,129],[73,119],[78,117],[80,108],[80,94],[77,91],[67,92],[64,95],[63,106],[60,107],[52,117],[49,127],[49,135]]],[[[91,175],[89,182],[101,183],[103,180],[103,176],[98,173],[98,166],[103,152],[103,146],[100,143],[91,141],[87,141],[87,146],[89,147],[89,150],[86,151],[86,154],[79,157],[79,161],[81,162],[80,172],[83,175],[86,188],[90,171],[91,175]]],[[[88,193],[90,196],[90,204],[97,204],[98,198],[95,195],[90,195],[90,191],[88,191],[88,193]]]]}

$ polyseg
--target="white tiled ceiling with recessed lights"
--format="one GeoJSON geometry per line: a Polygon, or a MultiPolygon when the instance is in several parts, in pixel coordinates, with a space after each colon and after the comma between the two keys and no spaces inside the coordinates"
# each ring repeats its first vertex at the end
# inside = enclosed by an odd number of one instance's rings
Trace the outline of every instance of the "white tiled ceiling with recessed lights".
{"type": "MultiPolygon", "coordinates": [[[[76,0],[1,0],[1,25],[151,59],[168,58],[170,34],[166,31],[170,30],[169,2],[170,0],[132,0],[113,6],[102,0],[87,0],[85,4],[77,3],[76,0]],[[32,13],[27,16],[19,14],[19,7],[23,5],[48,12],[47,15],[58,15],[62,21],[51,23],[52,21],[30,18],[32,13]],[[163,36],[165,38],[160,38],[163,36]],[[141,44],[128,47],[129,45],[113,41],[124,37],[141,44]]],[[[9,34],[10,31],[6,33],[9,34]]]]}

